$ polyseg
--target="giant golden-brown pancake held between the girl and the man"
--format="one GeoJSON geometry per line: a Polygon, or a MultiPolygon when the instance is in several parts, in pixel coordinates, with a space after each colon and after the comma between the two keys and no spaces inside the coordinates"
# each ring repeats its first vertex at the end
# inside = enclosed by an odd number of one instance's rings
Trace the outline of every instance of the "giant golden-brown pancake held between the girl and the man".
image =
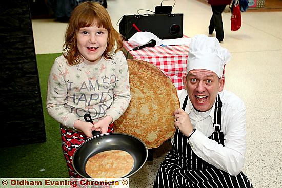
{"type": "Polygon", "coordinates": [[[174,135],[173,112],[180,107],[171,79],[149,62],[129,59],[131,101],[114,122],[115,132],[140,138],[157,148],[174,135]]]}

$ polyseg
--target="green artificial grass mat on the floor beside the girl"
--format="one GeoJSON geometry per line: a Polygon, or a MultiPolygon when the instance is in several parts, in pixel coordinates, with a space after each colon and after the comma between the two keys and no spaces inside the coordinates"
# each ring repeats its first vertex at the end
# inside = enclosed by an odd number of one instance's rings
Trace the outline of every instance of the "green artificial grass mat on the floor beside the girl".
{"type": "Polygon", "coordinates": [[[46,142],[0,148],[0,178],[68,178],[61,148],[59,124],[46,111],[46,91],[50,69],[61,54],[36,55],[41,86],[46,142]]]}

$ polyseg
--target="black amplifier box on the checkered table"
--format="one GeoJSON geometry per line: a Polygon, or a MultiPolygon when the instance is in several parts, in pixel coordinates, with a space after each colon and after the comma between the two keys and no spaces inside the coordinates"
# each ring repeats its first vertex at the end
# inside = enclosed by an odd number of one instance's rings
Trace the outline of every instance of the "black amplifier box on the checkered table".
{"type": "Polygon", "coordinates": [[[183,37],[183,14],[124,15],[119,33],[128,40],[138,31],[148,31],[160,39],[183,37]]]}

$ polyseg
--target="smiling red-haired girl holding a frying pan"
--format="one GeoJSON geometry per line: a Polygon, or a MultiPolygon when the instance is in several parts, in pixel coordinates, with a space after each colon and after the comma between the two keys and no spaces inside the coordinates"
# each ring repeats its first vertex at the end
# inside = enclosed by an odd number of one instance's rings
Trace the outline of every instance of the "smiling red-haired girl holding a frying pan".
{"type": "Polygon", "coordinates": [[[122,37],[98,3],[85,2],[73,10],[65,40],[65,53],[51,68],[46,103],[48,113],[61,123],[69,175],[82,178],[73,169],[73,153],[93,130],[113,132],[113,121],[131,99],[128,66],[120,51],[122,37]],[[93,124],[85,122],[86,113],[93,124]]]}

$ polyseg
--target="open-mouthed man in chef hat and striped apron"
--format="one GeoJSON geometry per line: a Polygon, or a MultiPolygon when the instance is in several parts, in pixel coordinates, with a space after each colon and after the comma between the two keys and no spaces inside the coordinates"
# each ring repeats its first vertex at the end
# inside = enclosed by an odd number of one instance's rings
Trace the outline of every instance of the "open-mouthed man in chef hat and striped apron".
{"type": "Polygon", "coordinates": [[[215,37],[192,38],[182,109],[174,111],[172,150],[154,187],[252,187],[241,172],[246,152],[246,107],[223,90],[227,49],[215,37]],[[187,95],[188,93],[188,95],[187,95]]]}

